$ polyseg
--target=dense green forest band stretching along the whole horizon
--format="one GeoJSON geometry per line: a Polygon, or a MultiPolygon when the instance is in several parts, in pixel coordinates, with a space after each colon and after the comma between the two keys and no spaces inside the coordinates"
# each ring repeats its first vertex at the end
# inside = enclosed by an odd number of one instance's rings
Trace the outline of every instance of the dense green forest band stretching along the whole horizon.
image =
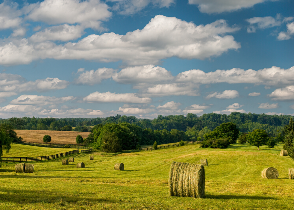
{"type": "Polygon", "coordinates": [[[32,130],[61,130],[71,129],[73,131],[91,131],[90,126],[107,123],[131,123],[140,126],[143,129],[171,131],[173,129],[179,131],[198,130],[201,131],[204,127],[213,130],[221,123],[235,123],[240,132],[251,132],[255,129],[263,129],[269,135],[273,136],[277,130],[282,130],[289,123],[290,115],[267,115],[267,114],[251,114],[232,112],[226,114],[203,114],[197,117],[195,114],[184,115],[158,115],[153,120],[138,119],[135,116],[116,116],[97,117],[97,118],[36,118],[36,117],[13,117],[10,119],[0,119],[0,123],[5,123],[13,127],[13,129],[32,129],[32,130]],[[67,126],[65,128],[65,126],[67,126]]]}

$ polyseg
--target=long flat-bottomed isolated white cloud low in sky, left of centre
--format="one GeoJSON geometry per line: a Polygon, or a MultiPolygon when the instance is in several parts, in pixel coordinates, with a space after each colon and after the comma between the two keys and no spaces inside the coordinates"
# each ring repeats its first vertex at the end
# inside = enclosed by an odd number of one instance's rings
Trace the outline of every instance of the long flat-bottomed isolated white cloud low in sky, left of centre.
{"type": "Polygon", "coordinates": [[[135,93],[100,93],[98,91],[89,94],[83,101],[86,102],[124,102],[124,103],[150,103],[150,98],[140,98],[135,93]]]}

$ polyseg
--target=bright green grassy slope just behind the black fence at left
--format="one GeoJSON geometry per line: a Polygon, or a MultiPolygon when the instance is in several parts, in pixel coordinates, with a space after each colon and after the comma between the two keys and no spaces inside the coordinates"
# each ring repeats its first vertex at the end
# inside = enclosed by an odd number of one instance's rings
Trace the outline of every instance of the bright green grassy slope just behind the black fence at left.
{"type": "Polygon", "coordinates": [[[63,152],[76,150],[75,148],[46,148],[29,145],[12,144],[9,153],[4,152],[3,157],[36,157],[55,155],[63,152]]]}

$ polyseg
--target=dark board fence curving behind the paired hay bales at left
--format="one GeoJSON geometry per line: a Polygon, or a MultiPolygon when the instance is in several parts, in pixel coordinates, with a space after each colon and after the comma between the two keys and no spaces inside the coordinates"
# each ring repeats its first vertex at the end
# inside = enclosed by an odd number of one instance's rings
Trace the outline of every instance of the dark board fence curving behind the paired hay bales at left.
{"type": "Polygon", "coordinates": [[[69,152],[59,153],[56,155],[49,155],[49,156],[38,156],[38,157],[2,157],[1,162],[33,162],[33,161],[39,161],[39,160],[52,160],[58,157],[64,157],[70,154],[79,153],[79,150],[73,150],[69,152]]]}

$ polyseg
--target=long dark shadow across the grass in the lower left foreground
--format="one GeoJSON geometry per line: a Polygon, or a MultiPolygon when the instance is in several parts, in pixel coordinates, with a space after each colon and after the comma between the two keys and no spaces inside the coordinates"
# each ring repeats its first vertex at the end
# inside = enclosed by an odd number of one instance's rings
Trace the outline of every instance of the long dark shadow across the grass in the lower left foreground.
{"type": "Polygon", "coordinates": [[[79,196],[70,195],[70,193],[56,192],[56,190],[22,190],[1,188],[1,193],[13,193],[15,196],[1,196],[1,202],[13,202],[18,204],[27,203],[57,203],[57,204],[74,204],[76,202],[103,202],[103,203],[117,203],[122,202],[114,199],[94,198],[93,196],[79,196]]]}

